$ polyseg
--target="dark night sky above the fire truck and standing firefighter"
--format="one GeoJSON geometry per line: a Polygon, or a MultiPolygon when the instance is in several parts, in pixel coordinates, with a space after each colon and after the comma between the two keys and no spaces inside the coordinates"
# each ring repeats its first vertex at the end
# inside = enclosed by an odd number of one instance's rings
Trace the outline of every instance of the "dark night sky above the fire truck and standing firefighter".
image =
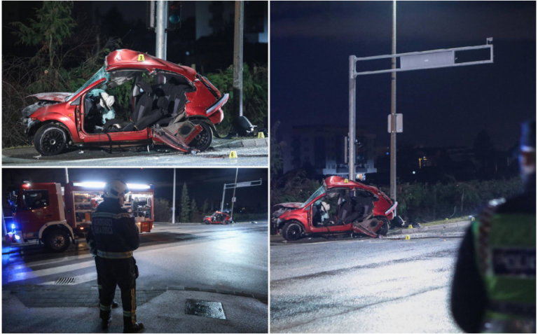
{"type": "MultiPolygon", "coordinates": [[[[69,168],[69,181],[106,181],[121,179],[126,183],[151,183],[155,186],[155,197],[172,200],[172,168],[69,168]]],[[[3,185],[20,185],[22,179],[32,182],[65,183],[64,168],[3,168],[3,185]]],[[[267,207],[268,172],[266,168],[240,168],[237,182],[262,179],[261,186],[237,188],[237,202],[244,206],[257,206],[261,203],[267,207]]],[[[224,183],[235,181],[235,168],[178,168],[176,169],[176,197],[179,201],[183,183],[186,182],[189,196],[195,197],[198,207],[205,199],[209,202],[221,202],[224,183]]],[[[229,202],[233,190],[226,190],[229,202]]]]}

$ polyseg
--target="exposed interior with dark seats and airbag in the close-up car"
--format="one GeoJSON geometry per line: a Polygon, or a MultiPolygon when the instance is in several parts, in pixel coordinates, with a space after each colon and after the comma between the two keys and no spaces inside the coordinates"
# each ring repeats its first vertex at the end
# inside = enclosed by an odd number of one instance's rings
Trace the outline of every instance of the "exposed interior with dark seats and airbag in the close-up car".
{"type": "Polygon", "coordinates": [[[186,93],[194,90],[191,83],[175,74],[111,72],[106,85],[84,97],[84,130],[95,134],[139,131],[156,124],[170,126],[184,118],[186,93]]]}

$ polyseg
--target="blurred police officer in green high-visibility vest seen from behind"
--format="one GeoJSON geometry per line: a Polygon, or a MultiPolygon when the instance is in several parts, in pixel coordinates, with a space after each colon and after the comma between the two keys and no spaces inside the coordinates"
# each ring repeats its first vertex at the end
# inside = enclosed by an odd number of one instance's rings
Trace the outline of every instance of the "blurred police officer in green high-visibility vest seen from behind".
{"type": "Polygon", "coordinates": [[[490,202],[464,237],[451,308],[468,333],[536,333],[536,122],[520,139],[523,193],[490,202]]]}

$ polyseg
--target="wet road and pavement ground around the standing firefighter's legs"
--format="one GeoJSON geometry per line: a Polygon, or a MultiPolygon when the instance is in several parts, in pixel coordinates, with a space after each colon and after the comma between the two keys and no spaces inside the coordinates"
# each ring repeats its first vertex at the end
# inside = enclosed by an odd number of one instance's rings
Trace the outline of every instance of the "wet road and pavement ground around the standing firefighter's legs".
{"type": "MultiPolygon", "coordinates": [[[[266,221],[156,223],[142,234],[135,258],[137,300],[145,302],[137,314],[146,333],[267,333],[267,237],[266,221]],[[188,314],[188,300],[221,302],[226,319],[188,314]]],[[[121,312],[113,309],[108,333],[123,329],[121,312]]],[[[3,245],[3,333],[102,333],[97,315],[95,262],[85,242],[64,253],[37,244],[3,245]],[[74,283],[55,284],[60,277],[74,283]],[[90,305],[81,307],[85,300],[90,305]]]]}

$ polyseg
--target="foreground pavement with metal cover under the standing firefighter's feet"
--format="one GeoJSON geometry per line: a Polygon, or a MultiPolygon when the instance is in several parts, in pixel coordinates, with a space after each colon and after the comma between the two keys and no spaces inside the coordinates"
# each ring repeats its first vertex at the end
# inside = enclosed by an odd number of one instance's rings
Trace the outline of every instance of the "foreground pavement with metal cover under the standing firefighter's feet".
{"type": "MultiPolygon", "coordinates": [[[[144,323],[144,333],[268,333],[266,295],[247,297],[233,291],[188,289],[137,291],[137,321],[144,323]],[[221,302],[226,319],[186,314],[187,300],[221,302]]],[[[123,331],[119,288],[116,301],[120,307],[112,310],[106,333],[123,331]]],[[[103,332],[95,288],[27,286],[2,291],[2,333],[103,332]]]]}

